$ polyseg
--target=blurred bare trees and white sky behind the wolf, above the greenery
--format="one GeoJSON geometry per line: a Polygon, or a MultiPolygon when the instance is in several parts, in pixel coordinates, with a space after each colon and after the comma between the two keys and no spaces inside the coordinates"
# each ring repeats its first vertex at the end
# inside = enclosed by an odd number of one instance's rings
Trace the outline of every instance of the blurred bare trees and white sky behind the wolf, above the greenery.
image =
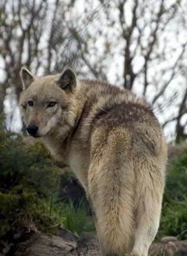
{"type": "Polygon", "coordinates": [[[186,0],[1,0],[0,113],[22,130],[19,71],[107,80],[145,96],[168,141],[186,139],[186,0]]]}

